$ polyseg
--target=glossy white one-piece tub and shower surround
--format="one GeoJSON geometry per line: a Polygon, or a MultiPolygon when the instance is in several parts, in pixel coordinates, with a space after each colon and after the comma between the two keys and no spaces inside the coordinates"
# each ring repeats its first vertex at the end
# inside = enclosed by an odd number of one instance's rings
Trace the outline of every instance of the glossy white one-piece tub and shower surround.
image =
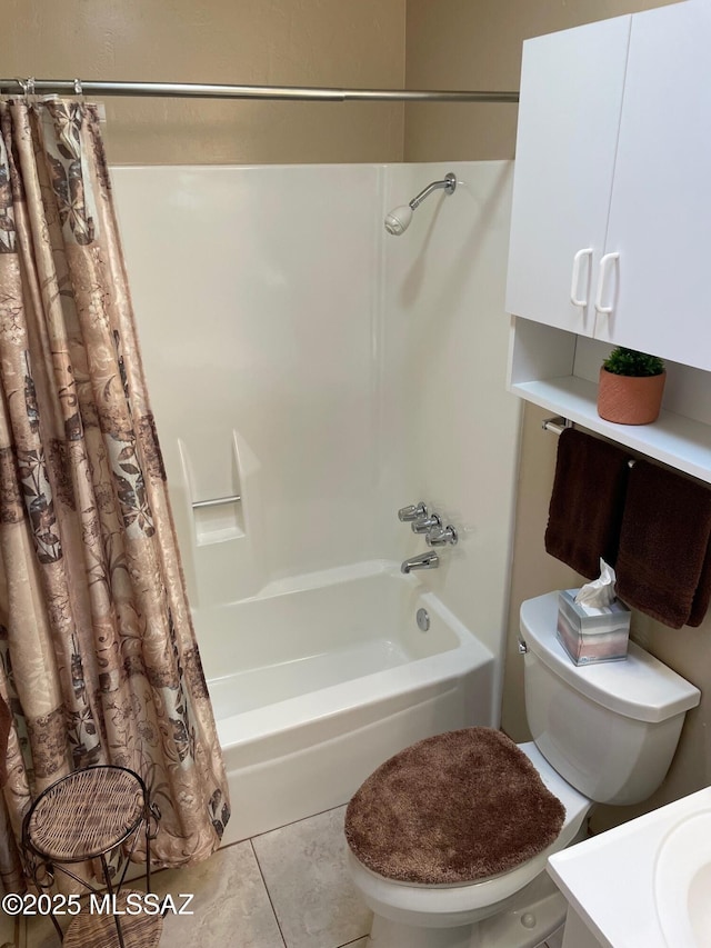
{"type": "Polygon", "coordinates": [[[343,802],[419,737],[499,722],[519,431],[504,390],[511,163],[112,176],[230,771],[231,841],[343,802]],[[450,170],[455,193],[432,196],[405,234],[388,237],[385,210],[450,170]],[[193,515],[192,501],[234,493],[240,505],[193,515]],[[425,545],[395,513],[418,500],[460,541],[439,569],[405,578],[399,562],[425,545]],[[257,639],[274,646],[262,681],[293,685],[278,668],[290,632],[297,656],[321,641],[324,668],[324,641],[342,645],[346,629],[356,649],[363,635],[378,640],[385,665],[382,649],[411,630],[412,610],[391,608],[378,636],[372,611],[349,621],[363,596],[369,608],[382,599],[384,618],[385,575],[391,589],[430,597],[455,648],[404,649],[407,661],[381,671],[351,661],[349,680],[336,672],[306,695],[277,690],[261,709],[221,708],[218,679],[238,676],[247,689],[239,676],[259,667],[246,658],[246,630],[254,655],[257,639]],[[250,622],[256,602],[261,618],[250,622]],[[293,613],[280,627],[284,603],[293,613]],[[298,619],[303,609],[312,618],[298,619]]]}

